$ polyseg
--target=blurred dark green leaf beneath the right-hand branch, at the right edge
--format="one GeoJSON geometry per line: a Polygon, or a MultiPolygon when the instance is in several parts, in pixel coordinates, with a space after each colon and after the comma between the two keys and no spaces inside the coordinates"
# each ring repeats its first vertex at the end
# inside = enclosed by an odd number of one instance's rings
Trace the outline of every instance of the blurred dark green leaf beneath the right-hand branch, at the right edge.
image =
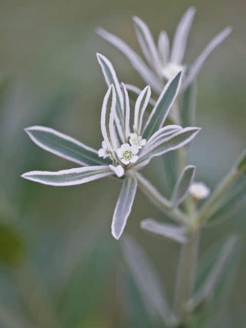
{"type": "Polygon", "coordinates": [[[242,176],[234,186],[219,200],[208,224],[220,222],[231,217],[246,202],[246,178],[242,176]]]}

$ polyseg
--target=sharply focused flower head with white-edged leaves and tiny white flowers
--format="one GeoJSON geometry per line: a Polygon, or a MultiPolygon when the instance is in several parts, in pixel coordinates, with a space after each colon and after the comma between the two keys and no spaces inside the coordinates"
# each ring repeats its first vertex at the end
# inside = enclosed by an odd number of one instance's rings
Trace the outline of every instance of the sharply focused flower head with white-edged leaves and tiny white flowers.
{"type": "MultiPolygon", "coordinates": [[[[200,129],[164,126],[180,89],[181,71],[169,79],[145,124],[143,118],[150,100],[151,88],[148,85],[141,91],[135,104],[134,125],[131,129],[127,89],[123,83],[120,86],[110,61],[101,54],[97,54],[97,58],[109,87],[101,110],[103,148],[96,151],[51,128],[27,128],[26,132],[36,145],[83,167],[58,172],[32,171],[22,176],[51,186],[79,185],[107,176],[122,180],[112,222],[112,234],[119,239],[131,212],[137,183],[149,183],[137,171],[145,167],[153,157],[186,145],[200,129]]],[[[153,187],[149,185],[149,189],[151,188],[153,187]]],[[[182,215],[178,209],[176,211],[182,222],[182,215]]],[[[173,213],[175,215],[175,210],[173,213]]]]}

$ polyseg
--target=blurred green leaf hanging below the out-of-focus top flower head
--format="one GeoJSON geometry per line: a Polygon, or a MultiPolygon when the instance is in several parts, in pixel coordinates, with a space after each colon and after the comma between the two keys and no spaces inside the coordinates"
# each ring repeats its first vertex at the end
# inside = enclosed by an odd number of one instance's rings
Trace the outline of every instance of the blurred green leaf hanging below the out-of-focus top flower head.
{"type": "Polygon", "coordinates": [[[196,79],[194,79],[194,81],[182,94],[181,121],[183,128],[193,127],[195,125],[196,94],[197,82],[196,79]]]}

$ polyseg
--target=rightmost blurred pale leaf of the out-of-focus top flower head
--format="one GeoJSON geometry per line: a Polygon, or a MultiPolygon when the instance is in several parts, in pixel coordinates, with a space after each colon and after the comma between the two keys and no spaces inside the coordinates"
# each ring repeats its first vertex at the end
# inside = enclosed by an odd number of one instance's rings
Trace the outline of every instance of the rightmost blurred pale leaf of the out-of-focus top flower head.
{"type": "Polygon", "coordinates": [[[192,65],[189,75],[182,83],[181,91],[186,90],[186,88],[192,83],[197,74],[199,73],[204,61],[208,58],[211,52],[219,45],[221,42],[228,37],[228,35],[232,32],[232,28],[228,26],[219,34],[217,34],[208,44],[208,46],[202,51],[202,53],[197,57],[192,65]]]}

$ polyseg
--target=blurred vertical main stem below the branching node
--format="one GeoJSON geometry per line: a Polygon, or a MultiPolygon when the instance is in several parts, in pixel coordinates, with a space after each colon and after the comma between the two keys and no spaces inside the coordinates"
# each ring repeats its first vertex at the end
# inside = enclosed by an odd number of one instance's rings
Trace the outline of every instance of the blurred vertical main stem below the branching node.
{"type": "Polygon", "coordinates": [[[186,315],[186,302],[191,296],[198,253],[199,231],[195,231],[189,241],[182,245],[174,298],[174,311],[182,321],[186,315]]]}

